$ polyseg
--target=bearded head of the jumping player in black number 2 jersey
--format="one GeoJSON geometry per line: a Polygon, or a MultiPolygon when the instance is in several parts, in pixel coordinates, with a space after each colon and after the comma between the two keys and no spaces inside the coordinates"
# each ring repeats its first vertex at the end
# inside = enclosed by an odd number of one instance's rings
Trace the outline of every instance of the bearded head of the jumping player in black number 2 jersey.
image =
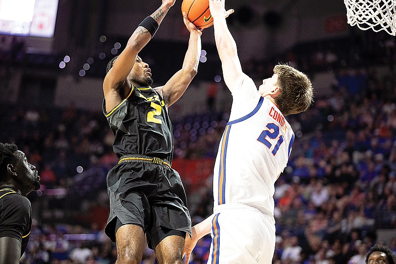
{"type": "MultiPolygon", "coordinates": [[[[106,74],[113,67],[115,60],[118,56],[112,58],[107,64],[106,74]]],[[[128,80],[133,84],[146,87],[152,84],[153,80],[151,78],[151,69],[148,67],[148,64],[142,60],[140,56],[136,56],[135,64],[128,75],[128,80]]]]}

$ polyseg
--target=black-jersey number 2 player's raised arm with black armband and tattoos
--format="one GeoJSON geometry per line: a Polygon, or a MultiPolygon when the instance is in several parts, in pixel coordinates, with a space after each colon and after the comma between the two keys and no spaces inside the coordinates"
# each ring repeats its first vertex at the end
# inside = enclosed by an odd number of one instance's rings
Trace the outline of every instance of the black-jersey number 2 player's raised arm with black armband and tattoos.
{"type": "Polygon", "coordinates": [[[127,77],[135,64],[138,53],[154,36],[162,19],[175,1],[162,0],[161,6],[139,24],[129,38],[125,49],[114,61],[112,68],[103,81],[103,93],[107,111],[117,106],[126,97],[127,89],[131,87],[127,77]]]}

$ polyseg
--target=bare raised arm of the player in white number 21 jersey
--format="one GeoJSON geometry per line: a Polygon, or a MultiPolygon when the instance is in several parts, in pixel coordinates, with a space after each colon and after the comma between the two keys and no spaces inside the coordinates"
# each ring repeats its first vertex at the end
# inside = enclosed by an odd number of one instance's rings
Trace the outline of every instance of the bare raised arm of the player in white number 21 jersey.
{"type": "Polygon", "coordinates": [[[209,0],[209,8],[213,17],[214,38],[223,68],[224,81],[232,92],[233,85],[243,72],[237,53],[237,44],[226,22],[226,17],[234,10],[226,11],[224,2],[225,0],[209,0]]]}

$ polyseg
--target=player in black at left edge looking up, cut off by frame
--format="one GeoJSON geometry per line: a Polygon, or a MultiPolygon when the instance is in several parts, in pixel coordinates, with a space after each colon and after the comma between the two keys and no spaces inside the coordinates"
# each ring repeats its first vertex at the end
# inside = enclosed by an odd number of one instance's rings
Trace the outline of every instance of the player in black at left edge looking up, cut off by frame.
{"type": "Polygon", "coordinates": [[[39,181],[15,144],[0,143],[0,264],[17,264],[25,252],[32,226],[26,195],[40,188],[39,181]]]}

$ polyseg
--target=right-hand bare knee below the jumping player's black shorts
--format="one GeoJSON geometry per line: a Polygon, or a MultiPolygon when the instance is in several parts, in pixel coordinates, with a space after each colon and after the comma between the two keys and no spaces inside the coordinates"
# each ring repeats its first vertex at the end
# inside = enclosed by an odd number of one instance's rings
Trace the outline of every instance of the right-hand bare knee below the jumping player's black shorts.
{"type": "Polygon", "coordinates": [[[155,248],[159,264],[183,264],[184,237],[167,236],[155,248]]]}

